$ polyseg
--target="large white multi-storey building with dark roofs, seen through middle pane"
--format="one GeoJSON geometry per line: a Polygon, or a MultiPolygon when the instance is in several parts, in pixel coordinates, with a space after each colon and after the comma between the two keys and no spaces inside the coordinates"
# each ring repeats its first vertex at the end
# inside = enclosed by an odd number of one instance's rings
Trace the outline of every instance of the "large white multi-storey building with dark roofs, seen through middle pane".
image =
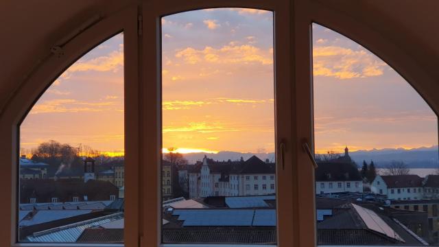
{"type": "Polygon", "coordinates": [[[275,164],[257,156],[247,161],[203,161],[189,169],[189,197],[257,196],[276,193],[275,164]]]}

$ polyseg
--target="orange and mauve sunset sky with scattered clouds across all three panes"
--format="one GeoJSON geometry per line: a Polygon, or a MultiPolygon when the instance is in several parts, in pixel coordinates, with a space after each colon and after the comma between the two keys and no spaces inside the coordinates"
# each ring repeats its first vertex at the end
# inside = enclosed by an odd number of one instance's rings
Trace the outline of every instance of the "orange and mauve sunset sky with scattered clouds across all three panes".
{"type": "MultiPolygon", "coordinates": [[[[317,152],[438,145],[437,117],[366,48],[313,25],[317,152]]],[[[211,9],[162,19],[163,148],[274,152],[273,14],[211,9]]],[[[123,153],[123,34],[56,79],[21,125],[21,148],[56,140],[123,153]]]]}

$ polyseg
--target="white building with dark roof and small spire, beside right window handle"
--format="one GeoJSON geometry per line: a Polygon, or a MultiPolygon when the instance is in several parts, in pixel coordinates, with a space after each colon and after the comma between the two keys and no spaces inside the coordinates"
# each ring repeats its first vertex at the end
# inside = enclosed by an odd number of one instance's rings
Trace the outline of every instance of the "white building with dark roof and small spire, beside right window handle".
{"type": "Polygon", "coordinates": [[[315,176],[317,194],[363,192],[363,179],[348,151],[346,147],[344,156],[318,162],[315,176]]]}

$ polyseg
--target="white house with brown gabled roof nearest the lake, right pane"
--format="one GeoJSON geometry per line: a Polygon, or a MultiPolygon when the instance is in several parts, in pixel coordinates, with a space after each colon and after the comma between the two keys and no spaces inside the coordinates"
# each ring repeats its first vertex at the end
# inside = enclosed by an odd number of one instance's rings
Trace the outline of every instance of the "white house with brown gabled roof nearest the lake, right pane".
{"type": "Polygon", "coordinates": [[[418,175],[378,175],[370,185],[370,191],[390,200],[420,200],[424,197],[423,178],[418,175]]]}

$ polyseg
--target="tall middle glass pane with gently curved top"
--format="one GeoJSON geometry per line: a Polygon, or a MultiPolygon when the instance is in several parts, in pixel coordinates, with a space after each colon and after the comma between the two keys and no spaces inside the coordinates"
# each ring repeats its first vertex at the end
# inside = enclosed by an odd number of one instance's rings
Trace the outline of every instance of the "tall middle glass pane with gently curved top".
{"type": "Polygon", "coordinates": [[[163,242],[274,244],[273,13],[161,23],[163,242]]]}

